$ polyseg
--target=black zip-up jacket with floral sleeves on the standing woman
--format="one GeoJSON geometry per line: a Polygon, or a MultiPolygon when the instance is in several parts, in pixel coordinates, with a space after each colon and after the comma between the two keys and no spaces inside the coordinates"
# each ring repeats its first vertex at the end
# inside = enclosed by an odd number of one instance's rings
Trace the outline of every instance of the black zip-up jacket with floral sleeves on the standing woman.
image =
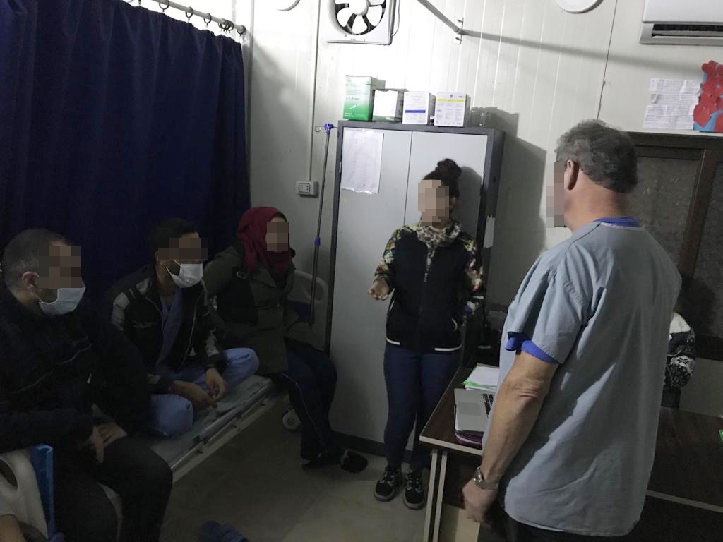
{"type": "Polygon", "coordinates": [[[418,225],[393,233],[376,277],[393,290],[387,313],[387,342],[419,353],[461,348],[460,327],[482,302],[476,241],[466,233],[435,249],[427,269],[427,244],[418,225]],[[474,277],[474,279],[473,279],[474,277]]]}

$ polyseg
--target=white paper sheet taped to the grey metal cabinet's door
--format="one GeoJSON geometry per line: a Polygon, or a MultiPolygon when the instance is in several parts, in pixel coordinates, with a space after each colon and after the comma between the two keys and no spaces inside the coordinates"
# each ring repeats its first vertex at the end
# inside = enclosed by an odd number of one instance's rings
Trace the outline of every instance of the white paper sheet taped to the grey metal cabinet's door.
{"type": "Polygon", "coordinates": [[[382,132],[345,130],[341,149],[341,189],[379,194],[383,148],[382,132]]]}

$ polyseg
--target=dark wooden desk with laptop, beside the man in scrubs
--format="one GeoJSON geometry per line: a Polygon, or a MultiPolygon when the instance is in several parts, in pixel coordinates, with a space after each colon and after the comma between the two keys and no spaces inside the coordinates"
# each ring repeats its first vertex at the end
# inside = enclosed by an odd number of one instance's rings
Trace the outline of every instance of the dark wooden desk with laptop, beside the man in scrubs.
{"type": "MultiPolygon", "coordinates": [[[[432,447],[424,542],[439,542],[442,497],[450,455],[463,463],[482,456],[481,448],[459,444],[454,433],[454,389],[463,387],[470,372],[467,367],[457,371],[419,438],[420,442],[432,447]]],[[[723,525],[721,429],[723,418],[661,408],[648,499],[641,523],[633,531],[635,540],[723,541],[723,536],[718,534],[711,534],[714,538],[701,538],[700,531],[696,534],[692,530],[675,533],[683,522],[690,522],[690,529],[700,528],[699,524],[703,522],[703,525],[710,525],[711,533],[716,533],[717,527],[713,523],[723,525]],[[665,522],[667,524],[663,525],[665,522]]],[[[466,471],[461,469],[460,472],[466,471]]],[[[456,485],[461,488],[468,479],[456,481],[456,485]]],[[[723,530],[717,531],[720,532],[723,530]]]]}

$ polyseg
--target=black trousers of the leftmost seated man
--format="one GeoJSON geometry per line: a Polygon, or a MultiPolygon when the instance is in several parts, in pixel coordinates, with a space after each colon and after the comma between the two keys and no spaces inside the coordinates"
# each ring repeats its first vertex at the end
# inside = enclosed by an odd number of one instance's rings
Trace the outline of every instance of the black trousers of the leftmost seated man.
{"type": "Polygon", "coordinates": [[[173,474],[145,444],[120,439],[100,465],[88,450],[56,450],[54,463],[56,516],[67,542],[116,541],[116,510],[99,483],[121,497],[121,542],[158,542],[173,474]]]}

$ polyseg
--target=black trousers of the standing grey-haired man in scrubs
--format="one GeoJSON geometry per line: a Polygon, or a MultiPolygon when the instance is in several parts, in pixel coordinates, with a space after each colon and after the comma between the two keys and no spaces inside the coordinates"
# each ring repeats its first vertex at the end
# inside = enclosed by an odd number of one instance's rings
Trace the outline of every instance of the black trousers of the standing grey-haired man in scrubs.
{"type": "Polygon", "coordinates": [[[513,520],[499,503],[489,512],[493,530],[479,529],[477,542],[631,542],[628,536],[586,536],[540,529],[513,520]]]}

